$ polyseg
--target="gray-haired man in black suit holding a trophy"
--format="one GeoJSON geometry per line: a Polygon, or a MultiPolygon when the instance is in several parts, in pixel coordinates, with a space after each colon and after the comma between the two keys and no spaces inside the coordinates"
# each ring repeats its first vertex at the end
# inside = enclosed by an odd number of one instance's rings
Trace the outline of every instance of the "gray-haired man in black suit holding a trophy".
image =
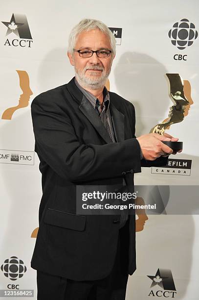
{"type": "Polygon", "coordinates": [[[78,215],[76,186],[124,186],[143,166],[165,165],[171,136],[134,136],[133,104],[108,92],[115,38],[82,20],[69,37],[75,77],[32,102],[43,197],[31,266],[39,300],[123,300],[135,266],[135,216],[78,215]],[[156,159],[157,158],[157,159],[156,159]]]}

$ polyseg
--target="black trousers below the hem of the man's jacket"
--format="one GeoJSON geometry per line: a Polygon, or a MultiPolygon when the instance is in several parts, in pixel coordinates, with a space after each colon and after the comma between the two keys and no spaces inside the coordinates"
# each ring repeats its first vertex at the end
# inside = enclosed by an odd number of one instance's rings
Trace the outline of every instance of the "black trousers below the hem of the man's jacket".
{"type": "Polygon", "coordinates": [[[129,221],[119,229],[114,265],[106,278],[75,281],[37,271],[37,300],[125,300],[128,261],[129,221]]]}

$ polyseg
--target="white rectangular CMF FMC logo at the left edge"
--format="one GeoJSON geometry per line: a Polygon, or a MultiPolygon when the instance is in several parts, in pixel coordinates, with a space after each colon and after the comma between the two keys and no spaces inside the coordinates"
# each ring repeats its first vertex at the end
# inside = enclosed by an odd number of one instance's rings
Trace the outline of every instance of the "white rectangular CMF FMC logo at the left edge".
{"type": "Polygon", "coordinates": [[[0,150],[0,163],[34,165],[34,151],[0,150]]]}

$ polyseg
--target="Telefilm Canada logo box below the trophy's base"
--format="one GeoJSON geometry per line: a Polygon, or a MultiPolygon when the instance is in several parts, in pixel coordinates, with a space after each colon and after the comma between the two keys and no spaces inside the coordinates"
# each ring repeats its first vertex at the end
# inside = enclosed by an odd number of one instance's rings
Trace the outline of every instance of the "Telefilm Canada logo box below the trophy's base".
{"type": "Polygon", "coordinates": [[[167,165],[163,167],[152,167],[152,174],[167,175],[191,175],[191,159],[173,159],[169,158],[167,165]]]}

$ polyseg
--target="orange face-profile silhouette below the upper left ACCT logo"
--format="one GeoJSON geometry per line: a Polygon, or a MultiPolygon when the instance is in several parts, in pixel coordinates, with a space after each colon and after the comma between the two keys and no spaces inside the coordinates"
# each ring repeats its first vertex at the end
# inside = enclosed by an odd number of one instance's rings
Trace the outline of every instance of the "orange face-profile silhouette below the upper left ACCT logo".
{"type": "Polygon", "coordinates": [[[19,104],[17,106],[7,108],[3,112],[2,117],[1,117],[1,119],[3,119],[3,120],[11,120],[12,115],[14,114],[14,112],[17,109],[28,106],[28,101],[30,99],[30,96],[33,94],[30,89],[29,76],[28,76],[27,72],[20,71],[20,70],[16,70],[16,71],[20,78],[20,87],[21,87],[23,93],[20,95],[19,104]]]}

